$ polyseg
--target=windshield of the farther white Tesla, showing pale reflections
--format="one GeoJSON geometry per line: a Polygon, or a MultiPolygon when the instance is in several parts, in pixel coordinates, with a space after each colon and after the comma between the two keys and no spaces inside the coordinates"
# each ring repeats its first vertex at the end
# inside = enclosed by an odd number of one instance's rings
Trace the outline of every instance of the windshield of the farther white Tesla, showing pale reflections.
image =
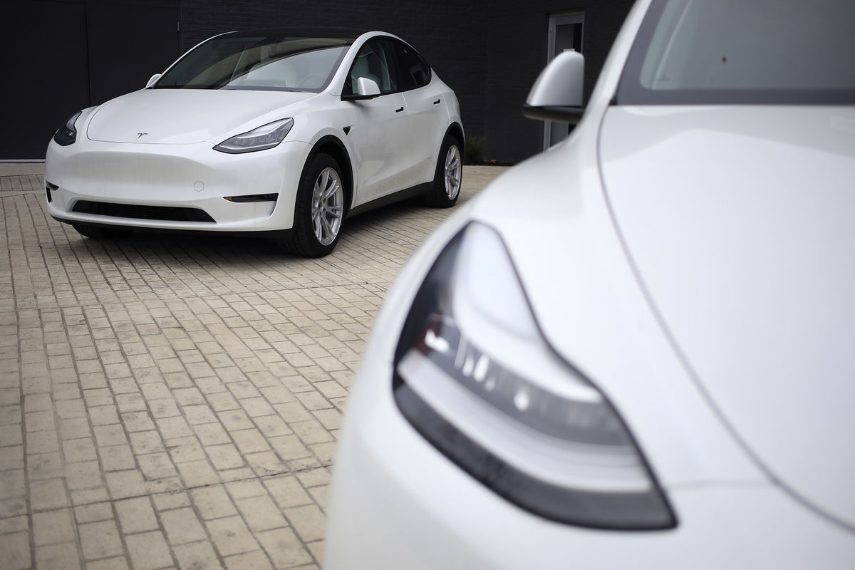
{"type": "Polygon", "coordinates": [[[352,43],[265,34],[217,36],[182,57],[154,88],[320,92],[352,43]]]}

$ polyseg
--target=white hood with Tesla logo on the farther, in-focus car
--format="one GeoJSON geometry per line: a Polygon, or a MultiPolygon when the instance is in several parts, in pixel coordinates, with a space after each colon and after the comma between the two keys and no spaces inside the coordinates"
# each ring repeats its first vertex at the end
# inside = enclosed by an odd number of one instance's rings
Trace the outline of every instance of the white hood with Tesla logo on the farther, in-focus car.
{"type": "MultiPolygon", "coordinates": [[[[225,138],[233,129],[315,93],[209,89],[144,89],[101,105],[86,137],[111,143],[192,144],[225,138]]],[[[276,117],[271,120],[284,118],[276,117]]],[[[259,125],[248,126],[255,128],[259,125]]]]}

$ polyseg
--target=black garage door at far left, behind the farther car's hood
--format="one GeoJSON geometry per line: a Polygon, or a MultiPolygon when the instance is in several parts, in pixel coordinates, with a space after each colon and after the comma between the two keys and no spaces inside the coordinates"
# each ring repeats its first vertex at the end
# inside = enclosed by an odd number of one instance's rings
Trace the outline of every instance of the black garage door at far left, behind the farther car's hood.
{"type": "Polygon", "coordinates": [[[0,160],[44,159],[69,116],[141,89],[180,56],[177,1],[16,0],[3,12],[11,13],[0,18],[11,112],[0,160]]]}

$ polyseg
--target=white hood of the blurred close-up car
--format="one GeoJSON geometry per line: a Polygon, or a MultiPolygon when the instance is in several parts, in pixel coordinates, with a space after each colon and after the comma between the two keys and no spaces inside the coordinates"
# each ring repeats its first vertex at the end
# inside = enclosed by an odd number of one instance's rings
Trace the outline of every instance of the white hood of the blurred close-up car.
{"type": "Polygon", "coordinates": [[[855,109],[612,107],[618,231],[747,450],[855,526],[855,109]]]}

